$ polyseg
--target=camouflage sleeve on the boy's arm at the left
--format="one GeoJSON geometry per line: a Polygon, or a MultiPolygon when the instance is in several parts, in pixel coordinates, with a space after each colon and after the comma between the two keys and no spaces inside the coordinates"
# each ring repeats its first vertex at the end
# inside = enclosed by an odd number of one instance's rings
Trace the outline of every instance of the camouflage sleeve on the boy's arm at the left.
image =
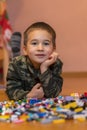
{"type": "Polygon", "coordinates": [[[18,68],[12,62],[9,64],[7,72],[6,93],[9,99],[18,100],[26,97],[28,91],[22,88],[22,81],[18,73],[18,68]]]}

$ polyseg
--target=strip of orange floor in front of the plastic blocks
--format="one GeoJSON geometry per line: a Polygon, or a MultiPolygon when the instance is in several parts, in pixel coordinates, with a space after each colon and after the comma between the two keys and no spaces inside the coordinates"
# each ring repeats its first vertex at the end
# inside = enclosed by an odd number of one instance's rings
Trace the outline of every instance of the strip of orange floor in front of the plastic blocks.
{"type": "Polygon", "coordinates": [[[0,127],[2,130],[87,130],[87,121],[66,121],[59,124],[41,124],[38,122],[0,123],[0,127]]]}

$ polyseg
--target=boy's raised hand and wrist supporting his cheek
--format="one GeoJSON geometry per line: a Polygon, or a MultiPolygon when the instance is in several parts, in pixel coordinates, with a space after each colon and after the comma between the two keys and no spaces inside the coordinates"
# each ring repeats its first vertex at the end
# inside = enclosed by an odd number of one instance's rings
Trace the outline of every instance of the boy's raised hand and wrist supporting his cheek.
{"type": "Polygon", "coordinates": [[[58,58],[58,53],[53,52],[53,53],[49,56],[49,58],[48,58],[47,60],[45,60],[45,61],[41,64],[41,66],[40,66],[41,73],[45,72],[50,65],[52,65],[53,63],[55,63],[56,60],[57,60],[57,58],[58,58]]]}

